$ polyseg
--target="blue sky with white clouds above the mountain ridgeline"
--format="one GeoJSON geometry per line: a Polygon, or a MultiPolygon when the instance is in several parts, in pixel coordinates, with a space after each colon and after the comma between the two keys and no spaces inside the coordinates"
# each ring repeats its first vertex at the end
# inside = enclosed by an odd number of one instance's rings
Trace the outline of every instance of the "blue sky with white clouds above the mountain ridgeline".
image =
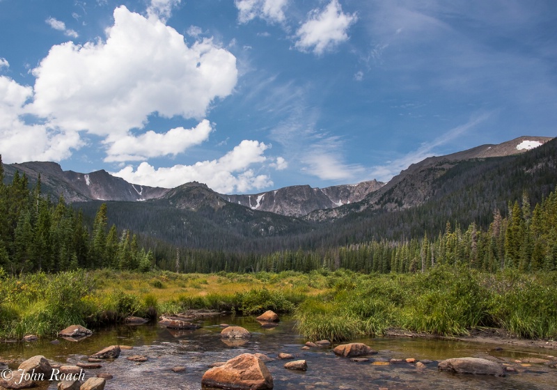
{"type": "Polygon", "coordinates": [[[0,154],[223,194],[557,133],[557,2],[0,0],[0,154]]]}

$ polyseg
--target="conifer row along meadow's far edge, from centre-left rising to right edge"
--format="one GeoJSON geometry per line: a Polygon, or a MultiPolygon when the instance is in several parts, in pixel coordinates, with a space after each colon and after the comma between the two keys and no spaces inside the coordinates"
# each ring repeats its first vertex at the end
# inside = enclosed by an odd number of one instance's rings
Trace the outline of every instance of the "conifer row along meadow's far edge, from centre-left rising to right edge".
{"type": "MultiPolygon", "coordinates": [[[[437,235],[420,239],[372,240],[314,250],[283,250],[270,254],[182,248],[173,258],[157,261],[175,272],[282,272],[338,270],[364,273],[425,272],[438,264],[465,265],[484,272],[516,269],[521,272],[557,270],[557,192],[532,209],[526,192],[521,203],[508,204],[507,217],[496,210],[489,228],[476,223],[465,230],[447,222],[437,235]]],[[[158,256],[157,256],[158,258],[158,256]]]]}

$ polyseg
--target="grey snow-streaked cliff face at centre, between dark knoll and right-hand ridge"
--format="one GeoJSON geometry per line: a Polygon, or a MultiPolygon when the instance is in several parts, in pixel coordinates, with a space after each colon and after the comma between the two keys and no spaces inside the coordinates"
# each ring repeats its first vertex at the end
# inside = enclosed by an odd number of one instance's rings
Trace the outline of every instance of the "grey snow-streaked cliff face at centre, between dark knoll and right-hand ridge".
{"type": "Polygon", "coordinates": [[[294,185],[253,195],[221,194],[221,197],[230,203],[244,205],[252,210],[300,217],[314,210],[336,208],[340,205],[359,202],[367,194],[377,191],[383,185],[384,183],[377,182],[377,180],[326,188],[294,185]]]}

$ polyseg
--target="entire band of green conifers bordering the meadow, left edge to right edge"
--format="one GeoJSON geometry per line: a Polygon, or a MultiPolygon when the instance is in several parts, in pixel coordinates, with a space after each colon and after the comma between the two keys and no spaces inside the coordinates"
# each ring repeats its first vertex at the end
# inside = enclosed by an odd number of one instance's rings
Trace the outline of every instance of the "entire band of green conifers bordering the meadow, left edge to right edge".
{"type": "Polygon", "coordinates": [[[3,183],[0,156],[0,267],[11,274],[58,272],[77,268],[174,272],[281,272],[345,268],[356,272],[424,272],[437,264],[466,265],[496,272],[557,270],[557,192],[532,208],[528,194],[508,204],[503,217],[493,214],[489,228],[447,222],[444,231],[424,232],[411,240],[372,240],[315,249],[215,251],[175,247],[108,227],[107,204],[94,221],[84,221],[61,197],[41,195],[40,176],[29,189],[26,176],[15,173],[3,183]],[[146,250],[145,248],[152,248],[146,250]]]}

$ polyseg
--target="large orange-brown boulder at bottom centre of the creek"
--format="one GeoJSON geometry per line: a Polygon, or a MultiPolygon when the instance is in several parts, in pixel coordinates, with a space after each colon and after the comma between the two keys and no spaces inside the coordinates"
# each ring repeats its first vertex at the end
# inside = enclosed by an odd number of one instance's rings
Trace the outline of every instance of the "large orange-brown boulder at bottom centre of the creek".
{"type": "Polygon", "coordinates": [[[265,390],[273,388],[273,378],[261,359],[246,353],[228,360],[223,366],[207,370],[201,384],[224,389],[265,390]]]}

